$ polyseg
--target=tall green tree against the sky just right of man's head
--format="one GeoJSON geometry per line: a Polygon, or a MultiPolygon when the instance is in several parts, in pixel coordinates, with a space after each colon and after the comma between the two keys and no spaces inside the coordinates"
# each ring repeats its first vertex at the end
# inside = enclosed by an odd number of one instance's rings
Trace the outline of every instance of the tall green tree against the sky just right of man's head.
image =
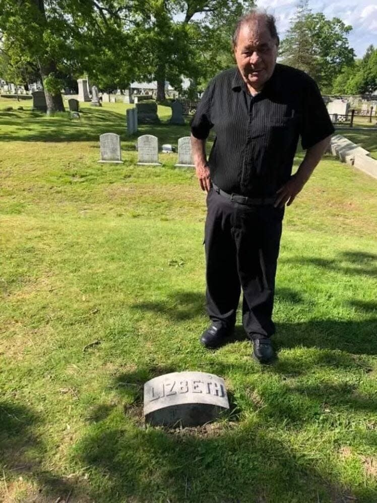
{"type": "Polygon", "coordinates": [[[299,4],[280,53],[283,62],[307,72],[323,92],[329,92],[342,68],[354,60],[346,36],[352,27],[339,18],[330,20],[322,13],[305,12],[305,5],[307,2],[299,4]]]}

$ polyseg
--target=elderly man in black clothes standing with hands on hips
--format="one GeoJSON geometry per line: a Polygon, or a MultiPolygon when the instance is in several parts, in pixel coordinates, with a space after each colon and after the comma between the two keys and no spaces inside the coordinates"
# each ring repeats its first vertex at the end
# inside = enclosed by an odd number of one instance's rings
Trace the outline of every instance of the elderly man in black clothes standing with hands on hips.
{"type": "Polygon", "coordinates": [[[211,81],[191,124],[196,172],[208,193],[211,326],[201,342],[207,348],[227,342],[242,289],[243,327],[261,363],[276,356],[270,337],[284,208],[302,190],[334,132],[316,83],[276,63],[278,45],[273,16],[244,16],[233,36],[237,68],[211,81]],[[216,138],[207,162],[211,128],[216,138]],[[299,136],[306,154],[292,175],[299,136]]]}

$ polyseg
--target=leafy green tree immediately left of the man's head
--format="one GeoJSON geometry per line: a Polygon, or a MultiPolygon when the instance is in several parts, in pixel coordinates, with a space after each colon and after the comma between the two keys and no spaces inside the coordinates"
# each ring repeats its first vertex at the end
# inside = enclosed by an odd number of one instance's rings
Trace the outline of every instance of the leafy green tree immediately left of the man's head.
{"type": "Polygon", "coordinates": [[[165,99],[166,80],[178,87],[182,75],[198,82],[223,69],[216,63],[226,54],[230,60],[235,21],[253,5],[250,0],[150,0],[148,8],[139,9],[141,22],[132,30],[145,61],[139,75],[157,80],[157,99],[165,99]]]}

